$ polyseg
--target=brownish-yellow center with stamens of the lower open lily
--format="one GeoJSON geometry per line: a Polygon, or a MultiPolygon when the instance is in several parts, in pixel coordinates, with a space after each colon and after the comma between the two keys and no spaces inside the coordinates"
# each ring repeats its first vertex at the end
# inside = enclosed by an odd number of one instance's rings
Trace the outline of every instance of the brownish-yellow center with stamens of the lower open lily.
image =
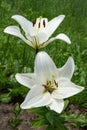
{"type": "Polygon", "coordinates": [[[45,91],[52,93],[55,89],[58,88],[58,83],[52,78],[51,81],[47,80],[46,85],[43,84],[45,91]]]}

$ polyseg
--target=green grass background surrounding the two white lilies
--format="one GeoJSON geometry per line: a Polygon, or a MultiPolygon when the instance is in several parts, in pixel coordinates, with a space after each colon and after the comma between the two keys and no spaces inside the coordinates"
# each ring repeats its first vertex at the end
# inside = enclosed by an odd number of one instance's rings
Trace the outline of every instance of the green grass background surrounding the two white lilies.
{"type": "MultiPolygon", "coordinates": [[[[15,74],[33,72],[35,51],[22,40],[4,34],[9,25],[18,25],[11,19],[12,15],[20,14],[33,21],[39,16],[49,20],[65,14],[66,18],[53,34],[66,33],[71,41],[67,45],[63,41],[55,41],[45,50],[52,57],[57,67],[61,67],[69,56],[75,60],[76,69],[73,81],[87,87],[87,1],[83,0],[1,0],[0,1],[0,101],[8,103],[15,96],[25,95],[27,90],[16,82],[15,74]]],[[[78,96],[70,98],[87,108],[87,88],[78,96]],[[83,97],[83,98],[82,98],[83,97]]]]}

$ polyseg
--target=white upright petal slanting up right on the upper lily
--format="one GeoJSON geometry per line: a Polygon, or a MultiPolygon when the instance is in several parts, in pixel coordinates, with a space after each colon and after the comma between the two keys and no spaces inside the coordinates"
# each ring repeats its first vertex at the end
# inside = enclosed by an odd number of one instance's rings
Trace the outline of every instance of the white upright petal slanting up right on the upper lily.
{"type": "Polygon", "coordinates": [[[60,25],[64,18],[65,15],[59,15],[58,17],[55,17],[48,22],[48,25],[46,27],[46,33],[49,37],[54,33],[54,31],[57,29],[57,27],[60,25]]]}

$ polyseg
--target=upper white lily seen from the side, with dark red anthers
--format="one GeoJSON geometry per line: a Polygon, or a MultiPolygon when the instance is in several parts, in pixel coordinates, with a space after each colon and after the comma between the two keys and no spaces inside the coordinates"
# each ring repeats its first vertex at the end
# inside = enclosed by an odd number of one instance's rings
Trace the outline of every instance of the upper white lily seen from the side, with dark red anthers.
{"type": "Polygon", "coordinates": [[[14,15],[12,18],[19,23],[25,32],[25,36],[22,35],[18,26],[8,26],[4,29],[4,32],[19,37],[25,43],[37,50],[47,46],[56,39],[63,40],[70,44],[71,41],[69,37],[63,33],[49,39],[63,21],[64,17],[64,15],[60,15],[49,22],[47,18],[40,17],[32,23],[21,15],[14,15]]]}

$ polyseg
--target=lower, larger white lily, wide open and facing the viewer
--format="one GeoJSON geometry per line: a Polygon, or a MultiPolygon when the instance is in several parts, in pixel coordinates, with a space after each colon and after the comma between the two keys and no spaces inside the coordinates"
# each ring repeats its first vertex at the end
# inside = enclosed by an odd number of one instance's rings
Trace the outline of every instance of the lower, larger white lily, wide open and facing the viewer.
{"type": "Polygon", "coordinates": [[[34,73],[16,74],[17,81],[30,88],[21,108],[47,106],[61,113],[64,107],[63,99],[84,89],[71,82],[74,67],[73,58],[69,57],[66,64],[57,69],[47,53],[39,52],[35,59],[34,73]]]}

